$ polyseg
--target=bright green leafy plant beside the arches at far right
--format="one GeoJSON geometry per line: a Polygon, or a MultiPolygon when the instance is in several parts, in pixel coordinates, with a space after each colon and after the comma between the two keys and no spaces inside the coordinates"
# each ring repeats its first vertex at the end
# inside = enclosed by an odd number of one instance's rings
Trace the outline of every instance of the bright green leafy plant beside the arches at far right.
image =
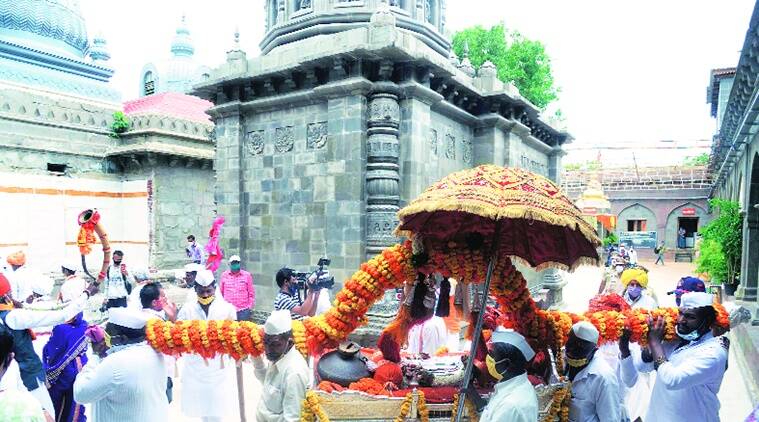
{"type": "Polygon", "coordinates": [[[705,272],[716,281],[735,284],[741,266],[743,247],[743,216],[736,201],[712,199],[709,205],[719,210],[719,216],[699,233],[702,242],[696,271],[705,272]]]}

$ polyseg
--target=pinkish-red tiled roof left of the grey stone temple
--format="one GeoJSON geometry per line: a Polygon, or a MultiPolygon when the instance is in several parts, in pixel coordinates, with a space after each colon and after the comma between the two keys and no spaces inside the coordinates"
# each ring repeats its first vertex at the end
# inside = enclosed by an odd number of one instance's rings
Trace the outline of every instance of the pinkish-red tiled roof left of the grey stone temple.
{"type": "Polygon", "coordinates": [[[206,110],[213,103],[192,95],[162,92],[124,103],[125,114],[155,113],[201,123],[210,123],[206,110]]]}

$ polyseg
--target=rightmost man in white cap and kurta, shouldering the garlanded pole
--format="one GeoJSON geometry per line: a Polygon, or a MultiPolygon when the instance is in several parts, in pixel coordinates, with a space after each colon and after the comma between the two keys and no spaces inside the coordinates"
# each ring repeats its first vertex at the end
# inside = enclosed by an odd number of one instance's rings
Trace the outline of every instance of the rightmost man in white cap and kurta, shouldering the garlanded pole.
{"type": "Polygon", "coordinates": [[[685,293],[680,301],[680,316],[675,332],[679,341],[664,343],[664,320],[649,319],[648,341],[651,356],[622,352],[622,374],[634,379],[640,372],[656,370],[656,382],[646,421],[717,422],[717,398],[727,369],[727,343],[714,337],[711,326],[717,320],[709,293],[685,293]]]}

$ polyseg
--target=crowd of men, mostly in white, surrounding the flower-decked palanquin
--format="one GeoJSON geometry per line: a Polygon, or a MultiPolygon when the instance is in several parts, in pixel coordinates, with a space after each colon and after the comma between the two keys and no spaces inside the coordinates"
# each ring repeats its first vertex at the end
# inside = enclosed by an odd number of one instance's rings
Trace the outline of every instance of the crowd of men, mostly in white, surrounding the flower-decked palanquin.
{"type": "MultiPolygon", "coordinates": [[[[194,257],[188,247],[193,262],[185,267],[183,283],[190,292],[178,310],[146,271],[127,267],[120,251],[114,252],[102,286],[87,285],[77,265],[62,264],[64,282],[54,298],[52,280],[25,275],[33,272],[24,269],[23,253],[10,256],[10,270],[0,273],[0,420],[166,421],[177,366],[184,416],[202,421],[238,418],[235,389],[240,363],[228,356],[185,355],[177,365],[146,342],[145,326],[153,318],[251,318],[255,290],[240,257],[229,258],[229,269],[218,282],[203,267],[202,255],[199,260],[194,257]],[[88,324],[83,314],[98,290],[104,293],[102,305],[108,312],[104,328],[88,324]],[[34,333],[46,331],[44,344],[35,348],[34,333]],[[6,374],[12,361],[17,373],[6,374]],[[14,384],[21,388],[11,388],[14,384]]],[[[317,314],[326,292],[309,289],[301,300],[292,269],[283,268],[274,278],[279,291],[275,310],[263,327],[265,353],[252,360],[262,384],[255,420],[298,421],[313,371],[293,347],[292,320],[317,314]]],[[[316,279],[312,274],[307,283],[316,279]]],[[[425,349],[412,340],[424,343],[442,323],[436,312],[442,302],[436,300],[439,288],[436,291],[430,280],[418,281],[418,289],[407,293],[409,301],[424,305],[415,308],[424,313],[417,319],[425,323],[409,336],[409,347],[418,348],[417,353],[425,349]]],[[[646,271],[628,269],[620,281],[620,293],[631,307],[657,307],[646,271]]],[[[572,384],[571,421],[719,420],[717,392],[727,368],[729,343],[724,333],[713,331],[713,297],[693,277],[683,278],[673,293],[680,308],[675,341],[664,340],[661,318],[647,321],[646,347],[631,344],[628,330],[618,344],[600,346],[592,324],[581,321],[572,326],[564,352],[572,384]]],[[[520,334],[501,329],[493,333],[485,363],[497,384],[480,420],[537,420],[537,398],[527,378],[534,356],[520,334]]]]}

